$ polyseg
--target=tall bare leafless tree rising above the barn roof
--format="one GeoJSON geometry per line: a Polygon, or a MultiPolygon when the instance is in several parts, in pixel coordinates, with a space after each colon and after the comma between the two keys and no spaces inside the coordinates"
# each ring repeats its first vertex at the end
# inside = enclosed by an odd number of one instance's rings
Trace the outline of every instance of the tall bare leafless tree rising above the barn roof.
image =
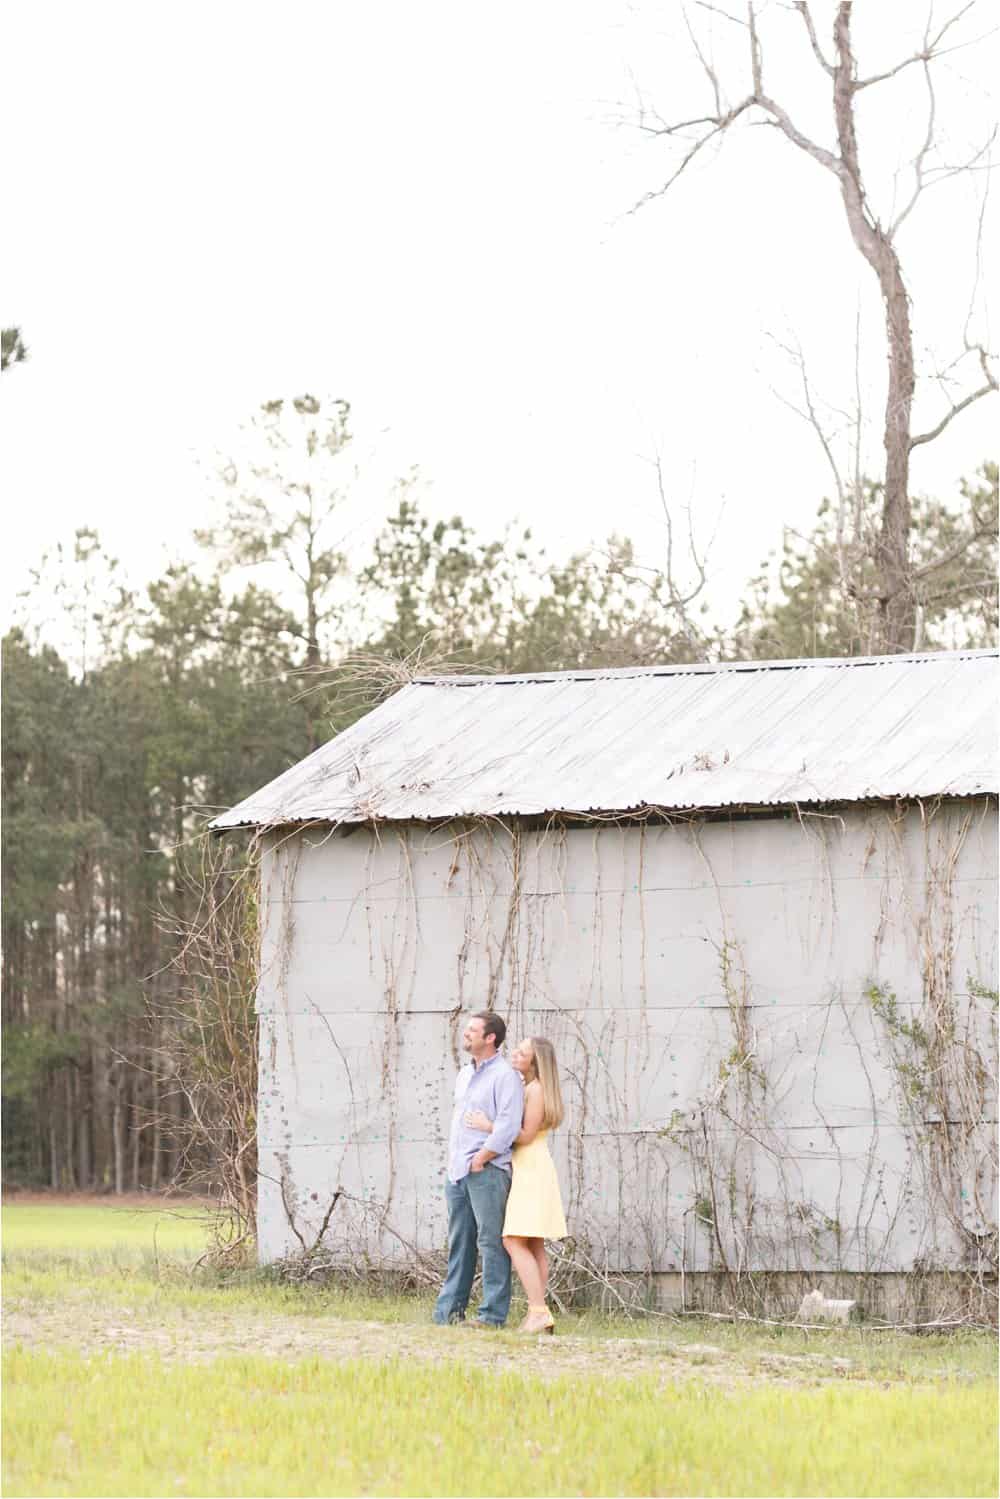
{"type": "MultiPolygon", "coordinates": [[[[804,46],[804,66],[816,69],[817,82],[826,90],[829,103],[829,139],[826,145],[820,139],[810,136],[793,118],[790,109],[780,99],[774,97],[768,87],[765,67],[765,40],[760,28],[762,4],[750,0],[744,15],[732,13],[721,6],[699,0],[700,10],[711,10],[733,22],[745,33],[744,76],[741,87],[732,93],[711,55],[711,48],[699,37],[696,28],[685,13],[688,36],[697,63],[705,73],[709,105],[700,112],[685,120],[664,120],[648,106],[640,106],[639,124],[651,135],[663,136],[678,142],[682,150],[673,159],[664,183],[648,192],[642,204],[663,196],[696,160],[696,157],[711,144],[717,142],[733,130],[738,123],[762,123],[778,130],[796,150],[805,153],[817,168],[831,174],[840,189],[840,196],[856,250],[864,256],[871,271],[877,277],[879,292],[885,313],[885,334],[888,345],[889,379],[885,406],[885,469],[880,475],[882,516],[874,537],[849,535],[852,513],[861,517],[861,462],[856,466],[855,481],[841,480],[837,475],[841,514],[838,522],[838,537],[841,540],[841,571],[843,583],[850,597],[868,606],[874,619],[873,648],[877,651],[912,651],[918,634],[919,619],[919,583],[918,568],[912,562],[912,526],[913,513],[910,501],[910,457],[916,448],[933,442],[951,426],[960,412],[975,402],[990,396],[997,390],[997,378],[991,366],[987,348],[970,337],[970,319],[963,330],[963,349],[958,360],[952,361],[952,369],[966,360],[975,366],[973,379],[967,381],[964,391],[957,397],[946,397],[946,408],[940,420],[924,432],[913,430],[913,396],[918,381],[913,352],[913,324],[910,315],[910,291],[907,276],[898,249],[898,235],[904,223],[910,220],[924,193],[958,172],[985,171],[990,166],[988,154],[996,129],[967,160],[955,165],[940,159],[937,97],[934,91],[934,69],[939,60],[957,45],[958,25],[973,10],[976,0],[969,0],[952,15],[936,24],[933,4],[924,31],[922,45],[901,57],[892,66],[873,73],[862,73],[855,55],[852,37],[852,0],[840,0],[834,13],[832,36],[825,45],[816,24],[814,6],[810,0],[795,0],[795,4],[784,6],[786,10],[798,13],[802,22],[801,36],[804,46]],[[811,64],[807,61],[811,54],[811,64]],[[927,88],[927,121],[921,136],[918,153],[912,162],[912,186],[909,196],[898,211],[883,216],[865,184],[862,172],[862,153],[858,139],[858,100],[867,90],[877,88],[897,78],[906,69],[916,67],[924,73],[927,88]],[[853,501],[853,504],[852,504],[853,501]],[[853,541],[853,549],[852,549],[853,541]],[[876,564],[876,582],[865,586],[861,582],[862,567],[870,571],[870,564],[876,564]]],[[[813,420],[825,445],[826,457],[834,463],[834,454],[823,435],[816,409],[810,396],[808,381],[805,384],[805,415],[813,420]]],[[[837,465],[834,463],[835,469],[837,465]]],[[[990,520],[993,525],[993,520],[990,520]]],[[[957,541],[957,552],[952,552],[945,562],[954,564],[964,547],[973,547],[981,540],[975,529],[967,537],[957,541]]],[[[924,564],[924,574],[945,565],[937,559],[924,564]]]]}

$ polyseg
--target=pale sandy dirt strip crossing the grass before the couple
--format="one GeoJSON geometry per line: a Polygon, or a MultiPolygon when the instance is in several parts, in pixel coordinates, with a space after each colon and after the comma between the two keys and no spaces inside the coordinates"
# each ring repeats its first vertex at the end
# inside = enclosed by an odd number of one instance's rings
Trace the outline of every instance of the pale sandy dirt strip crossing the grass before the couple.
{"type": "Polygon", "coordinates": [[[436,1328],[279,1313],[114,1307],[91,1297],[9,1301],[3,1342],[27,1348],[75,1348],[90,1355],[159,1354],[168,1363],[207,1363],[240,1354],[276,1360],[405,1358],[462,1363],[469,1369],[540,1376],[660,1373],[669,1381],[700,1379],[726,1385],[759,1381],[825,1384],[859,1376],[847,1358],[822,1354],[738,1357],[711,1343],[666,1339],[519,1337],[475,1327],[436,1328]]]}

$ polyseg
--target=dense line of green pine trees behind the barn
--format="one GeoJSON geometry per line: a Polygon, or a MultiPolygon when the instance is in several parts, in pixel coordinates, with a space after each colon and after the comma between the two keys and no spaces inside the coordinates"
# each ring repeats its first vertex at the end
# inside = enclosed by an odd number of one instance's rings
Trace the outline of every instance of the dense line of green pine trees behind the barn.
{"type": "MultiPolygon", "coordinates": [[[[3,642],[7,1180],[124,1192],[190,1169],[196,1094],[178,1069],[207,1042],[184,1051],[178,1027],[193,1015],[183,952],[196,946],[204,824],[406,672],[864,648],[825,513],[751,583],[732,633],[696,624],[694,600],[639,570],[627,540],[553,562],[528,532],[480,538],[460,517],[429,519],[412,483],[349,568],[336,525],[327,534],[348,417],[310,397],[270,403],[265,457],[228,466],[195,562],[136,594],[82,531],[39,568],[3,642]],[[268,586],[247,583],[247,565],[268,586]]],[[[919,511],[928,649],[996,639],[996,504],[987,468],[954,507],[919,511]]]]}

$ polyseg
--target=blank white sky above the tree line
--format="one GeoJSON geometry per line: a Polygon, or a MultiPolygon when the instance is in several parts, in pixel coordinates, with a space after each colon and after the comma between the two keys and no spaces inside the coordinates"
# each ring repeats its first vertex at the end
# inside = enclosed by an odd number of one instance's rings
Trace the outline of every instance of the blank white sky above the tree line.
{"type": "MultiPolygon", "coordinates": [[[[826,37],[832,4],[814,9],[826,37]]],[[[778,0],[762,12],[772,93],[831,144],[799,18],[778,0]]],[[[690,15],[739,93],[739,28],[690,15]]],[[[855,15],[865,72],[919,45],[918,0],[855,15]]],[[[981,0],[954,33],[975,45],[939,64],[939,162],[988,135],[994,18],[981,0]]],[[[673,0],[22,3],[4,54],[0,316],[31,352],[1,391],[7,595],[82,525],[135,582],[190,552],[199,459],[238,450],[240,423],[277,394],[351,400],[370,454],[361,538],[417,465],[433,513],[489,531],[520,517],[561,552],[625,531],[655,564],[660,450],[702,535],[726,502],[723,610],[829,490],[772,388],[798,396],[769,334],[798,337],[817,390],[847,405],[861,309],[877,456],[874,277],[826,172],[774,130],[741,130],[628,213],[676,160],[622,123],[634,88],[666,117],[709,103],[673,0]]],[[[864,96],[886,213],[924,109],[919,69],[864,96]]],[[[937,187],[901,234],[925,367],[961,349],[985,181],[937,187]]],[[[988,237],[994,222],[988,204],[988,237]]],[[[981,280],[970,327],[987,340],[988,313],[981,280]]],[[[990,406],[919,450],[918,490],[952,492],[991,453],[990,406]]],[[[918,427],[943,411],[927,391],[918,427]]]]}

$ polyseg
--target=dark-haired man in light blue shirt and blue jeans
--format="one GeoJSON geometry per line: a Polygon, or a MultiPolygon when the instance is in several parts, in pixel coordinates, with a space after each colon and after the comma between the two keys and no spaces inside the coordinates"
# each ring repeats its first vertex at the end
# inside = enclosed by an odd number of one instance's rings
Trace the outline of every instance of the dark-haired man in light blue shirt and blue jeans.
{"type": "Polygon", "coordinates": [[[483,1301],[477,1327],[502,1327],[510,1310],[510,1255],[504,1249],[504,1213],[510,1193],[510,1154],[520,1130],[522,1081],[499,1048],[507,1027],[499,1015],[480,1010],[469,1019],[462,1046],[469,1063],[454,1084],[454,1112],[448,1139],[448,1270],[438,1297],[435,1322],[465,1322],[475,1276],[477,1252],[483,1256],[483,1301]],[[465,1115],[483,1109],[493,1130],[471,1130],[465,1115]]]}

